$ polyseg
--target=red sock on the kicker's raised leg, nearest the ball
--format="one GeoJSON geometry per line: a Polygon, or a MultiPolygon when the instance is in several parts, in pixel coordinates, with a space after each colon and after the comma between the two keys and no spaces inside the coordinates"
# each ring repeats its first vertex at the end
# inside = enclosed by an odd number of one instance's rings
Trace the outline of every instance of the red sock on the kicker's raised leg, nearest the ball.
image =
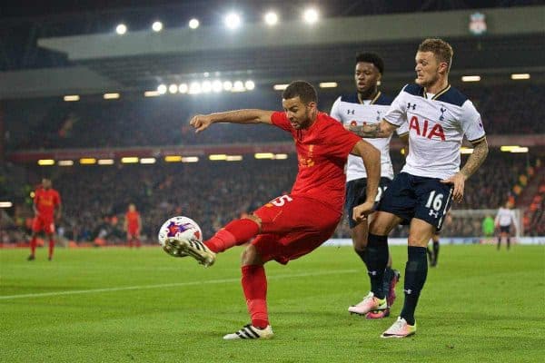
{"type": "Polygon", "coordinates": [[[213,252],[223,252],[233,246],[246,243],[258,233],[259,225],[255,221],[246,218],[234,220],[217,231],[213,238],[204,241],[204,244],[213,252]]]}

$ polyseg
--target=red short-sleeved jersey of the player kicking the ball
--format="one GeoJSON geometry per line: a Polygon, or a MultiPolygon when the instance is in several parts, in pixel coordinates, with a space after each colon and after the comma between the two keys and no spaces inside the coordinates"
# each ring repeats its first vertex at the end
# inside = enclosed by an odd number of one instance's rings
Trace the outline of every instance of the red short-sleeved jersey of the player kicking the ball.
{"type": "MultiPolygon", "coordinates": [[[[297,149],[299,172],[292,195],[322,201],[342,213],[344,203],[344,164],[354,145],[362,139],[348,132],[327,113],[318,113],[308,129],[296,130],[285,113],[272,113],[271,121],[291,132],[297,149]]],[[[312,211],[309,211],[312,212],[312,211]]]]}

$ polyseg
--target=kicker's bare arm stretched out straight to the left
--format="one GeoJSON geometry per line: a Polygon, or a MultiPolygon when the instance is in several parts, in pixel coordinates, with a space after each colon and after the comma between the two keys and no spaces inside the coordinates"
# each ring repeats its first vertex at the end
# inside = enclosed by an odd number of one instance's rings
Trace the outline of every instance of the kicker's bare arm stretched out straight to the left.
{"type": "Polygon", "coordinates": [[[213,123],[272,123],[272,111],[257,109],[235,110],[225,113],[197,114],[189,122],[195,132],[206,130],[213,123]]]}

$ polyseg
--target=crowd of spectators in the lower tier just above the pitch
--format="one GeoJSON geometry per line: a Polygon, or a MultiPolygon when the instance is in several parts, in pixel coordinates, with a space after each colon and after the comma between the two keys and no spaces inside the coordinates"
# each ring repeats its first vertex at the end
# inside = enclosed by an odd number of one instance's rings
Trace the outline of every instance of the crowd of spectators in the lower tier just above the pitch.
{"type": "MultiPolygon", "coordinates": [[[[480,172],[468,182],[465,200],[453,209],[497,209],[513,197],[512,187],[524,170],[524,158],[520,154],[491,152],[480,172]]],[[[402,165],[399,152],[393,152],[392,159],[394,169],[399,172],[402,165]]],[[[154,242],[163,221],[174,215],[186,215],[197,221],[204,237],[209,237],[228,221],[289,192],[297,163],[295,155],[290,154],[287,160],[254,160],[247,156],[242,162],[159,162],[50,170],[54,170],[54,188],[61,192],[64,204],[59,234],[74,241],[99,238],[124,243],[123,219],[129,203],[134,203],[142,214],[146,241],[154,242]]],[[[28,204],[26,212],[32,216],[28,204]]],[[[24,214],[21,209],[21,215],[24,214]]],[[[480,233],[483,217],[453,218],[445,233],[474,236],[480,233]]],[[[391,236],[406,234],[407,229],[400,226],[391,236]]],[[[348,223],[343,218],[334,237],[349,236],[348,223]]]]}

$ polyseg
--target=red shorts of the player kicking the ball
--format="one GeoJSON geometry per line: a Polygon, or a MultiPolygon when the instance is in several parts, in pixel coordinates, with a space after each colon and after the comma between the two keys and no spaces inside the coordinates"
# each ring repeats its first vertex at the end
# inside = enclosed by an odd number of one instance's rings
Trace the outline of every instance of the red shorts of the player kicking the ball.
{"type": "Polygon", "coordinates": [[[284,265],[329,240],[342,217],[320,201],[291,195],[282,195],[253,214],[262,221],[262,234],[252,244],[263,261],[284,265]]]}

